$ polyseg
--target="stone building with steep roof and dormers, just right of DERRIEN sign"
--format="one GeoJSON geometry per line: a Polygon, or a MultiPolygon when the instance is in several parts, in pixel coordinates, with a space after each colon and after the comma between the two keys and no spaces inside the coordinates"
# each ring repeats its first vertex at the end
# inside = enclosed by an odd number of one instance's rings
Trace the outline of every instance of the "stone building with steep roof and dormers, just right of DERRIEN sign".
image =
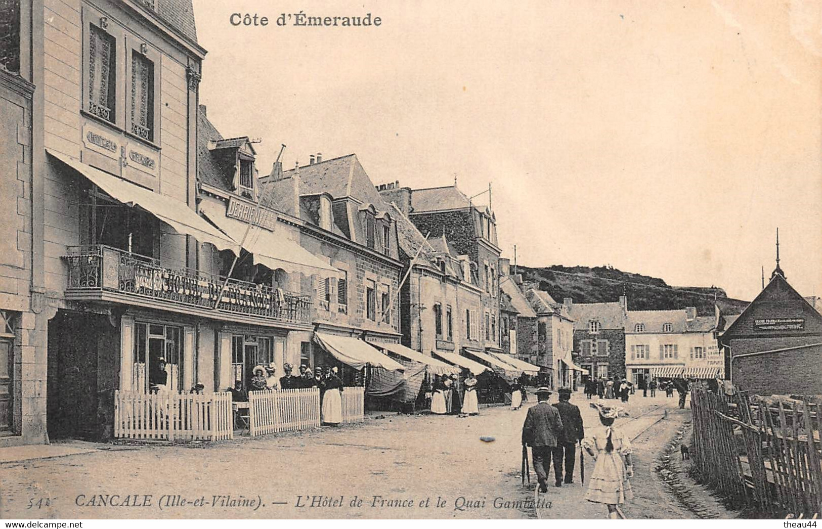
{"type": "MultiPolygon", "coordinates": [[[[274,168],[261,182],[276,209],[302,221],[300,246],[341,271],[316,289],[316,334],[399,343],[403,263],[396,214],[357,155],[324,160],[317,154],[284,173],[274,168]]],[[[312,365],[331,361],[316,340],[302,357],[312,365]]]]}

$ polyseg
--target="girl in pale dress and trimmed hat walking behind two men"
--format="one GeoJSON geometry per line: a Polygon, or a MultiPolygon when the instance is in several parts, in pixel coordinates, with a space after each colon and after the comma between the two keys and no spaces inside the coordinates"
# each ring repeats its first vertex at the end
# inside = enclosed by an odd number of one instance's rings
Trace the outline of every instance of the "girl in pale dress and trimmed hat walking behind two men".
{"type": "Polygon", "coordinates": [[[585,499],[597,504],[606,504],[608,517],[625,518],[619,506],[626,499],[633,499],[629,479],[634,476],[631,461],[630,439],[622,430],[613,427],[622,411],[621,407],[609,407],[603,403],[591,403],[599,412],[602,426],[589,431],[582,440],[582,446],[596,461],[589,478],[585,499]]]}

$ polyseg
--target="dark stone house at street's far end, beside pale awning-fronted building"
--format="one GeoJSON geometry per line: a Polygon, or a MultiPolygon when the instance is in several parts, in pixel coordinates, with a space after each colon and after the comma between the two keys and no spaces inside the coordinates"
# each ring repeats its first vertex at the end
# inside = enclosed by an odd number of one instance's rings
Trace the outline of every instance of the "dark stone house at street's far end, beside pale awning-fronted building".
{"type": "Polygon", "coordinates": [[[574,361],[588,378],[622,378],[625,371],[625,321],[628,300],[604,303],[575,303],[566,297],[562,304],[574,320],[574,361]]]}

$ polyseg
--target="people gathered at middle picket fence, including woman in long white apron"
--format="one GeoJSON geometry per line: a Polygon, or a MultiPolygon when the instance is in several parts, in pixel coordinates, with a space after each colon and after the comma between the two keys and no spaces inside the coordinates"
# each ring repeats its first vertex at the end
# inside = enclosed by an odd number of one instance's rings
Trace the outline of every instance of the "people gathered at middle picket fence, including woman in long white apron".
{"type": "MultiPolygon", "coordinates": [[[[330,426],[339,426],[343,421],[342,391],[343,380],[339,378],[337,366],[317,366],[313,373],[306,364],[299,366],[299,375],[293,375],[293,366],[285,363],[284,376],[276,377],[277,368],[274,362],[268,366],[255,366],[252,380],[248,385],[250,391],[266,389],[320,389],[321,421],[330,426]]],[[[242,380],[237,380],[231,389],[233,400],[247,400],[242,392],[242,380]]]]}

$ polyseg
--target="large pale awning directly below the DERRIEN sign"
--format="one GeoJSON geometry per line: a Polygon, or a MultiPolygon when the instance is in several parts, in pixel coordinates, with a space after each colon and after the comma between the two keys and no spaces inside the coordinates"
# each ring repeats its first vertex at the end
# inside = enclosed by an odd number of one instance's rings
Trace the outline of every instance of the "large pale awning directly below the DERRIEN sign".
{"type": "MultiPolygon", "coordinates": [[[[229,237],[238,242],[234,246],[236,251],[239,242],[242,241],[242,237],[246,233],[247,224],[239,220],[229,219],[225,216],[223,206],[205,200],[200,203],[200,211],[219,229],[228,233],[229,237]]],[[[340,274],[338,269],[324,263],[297,242],[289,239],[285,230],[278,229],[275,232],[270,232],[266,228],[252,228],[248,232],[243,247],[253,255],[255,265],[265,265],[272,270],[281,268],[289,273],[298,272],[305,275],[321,274],[330,276],[340,274]]]]}

